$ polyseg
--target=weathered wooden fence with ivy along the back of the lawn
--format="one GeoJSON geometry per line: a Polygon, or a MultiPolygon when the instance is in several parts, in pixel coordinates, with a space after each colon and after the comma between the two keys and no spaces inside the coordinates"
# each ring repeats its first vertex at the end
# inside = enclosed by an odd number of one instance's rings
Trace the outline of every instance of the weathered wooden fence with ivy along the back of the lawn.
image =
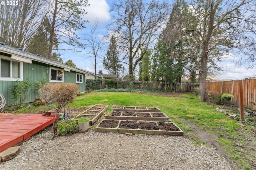
{"type": "MultiPolygon", "coordinates": [[[[166,89],[172,92],[191,92],[198,84],[191,83],[167,83],[166,89]]],[[[136,88],[147,90],[164,90],[164,84],[161,82],[133,82],[130,81],[116,81],[110,79],[86,79],[86,90],[99,90],[102,88],[136,88]]]]}

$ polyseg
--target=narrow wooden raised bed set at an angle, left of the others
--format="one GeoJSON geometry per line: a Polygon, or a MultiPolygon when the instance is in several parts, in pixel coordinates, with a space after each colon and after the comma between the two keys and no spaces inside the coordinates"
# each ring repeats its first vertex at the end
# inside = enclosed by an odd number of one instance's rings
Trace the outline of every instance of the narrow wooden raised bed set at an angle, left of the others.
{"type": "Polygon", "coordinates": [[[107,107],[108,105],[96,104],[72,119],[78,119],[78,117],[82,117],[82,116],[88,117],[90,119],[89,125],[91,126],[102,115],[102,113],[104,113],[107,107]]]}

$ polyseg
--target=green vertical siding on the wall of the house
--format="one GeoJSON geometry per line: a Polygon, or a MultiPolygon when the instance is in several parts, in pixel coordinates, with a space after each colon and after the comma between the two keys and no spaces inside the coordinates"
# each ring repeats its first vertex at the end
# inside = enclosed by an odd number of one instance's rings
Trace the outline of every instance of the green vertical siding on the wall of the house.
{"type": "MultiPolygon", "coordinates": [[[[49,80],[49,74],[50,74],[50,66],[48,64],[39,63],[36,61],[32,61],[32,64],[29,63],[23,63],[23,80],[36,80],[36,81],[42,81],[44,79],[49,80]]],[[[58,68],[56,66],[52,66],[55,68],[58,68]]],[[[79,73],[81,74],[81,73],[79,73]]],[[[84,84],[85,84],[85,75],[83,75],[83,82],[82,83],[76,83],[76,72],[74,71],[64,71],[63,78],[64,82],[68,83],[74,83],[78,84],[79,90],[84,90],[84,84]]],[[[5,107],[14,105],[14,100],[12,98],[11,89],[15,81],[1,81],[0,80],[0,93],[4,96],[6,100],[5,107]]],[[[39,94],[35,90],[30,90],[28,98],[25,100],[25,103],[34,102],[35,98],[39,97],[39,94]]]]}

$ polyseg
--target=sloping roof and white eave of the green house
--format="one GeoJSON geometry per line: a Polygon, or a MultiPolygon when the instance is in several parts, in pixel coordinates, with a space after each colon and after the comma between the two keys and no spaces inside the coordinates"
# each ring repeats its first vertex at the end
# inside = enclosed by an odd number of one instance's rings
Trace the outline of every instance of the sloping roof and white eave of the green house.
{"type": "MultiPolygon", "coordinates": [[[[30,60],[37,61],[37,62],[40,62],[40,63],[50,64],[50,65],[53,65],[53,66],[56,66],[56,67],[64,68],[64,70],[66,70],[66,71],[72,70],[72,71],[75,71],[75,72],[88,74],[88,72],[86,70],[73,68],[73,67],[68,66],[66,64],[59,63],[59,62],[54,61],[52,59],[46,59],[46,58],[44,58],[40,55],[28,53],[28,52],[26,52],[22,49],[17,49],[17,48],[11,47],[9,45],[6,45],[4,43],[1,43],[1,42],[0,42],[0,52],[7,53],[7,54],[10,54],[12,56],[14,55],[14,56],[21,57],[21,59],[24,59],[24,62],[26,62],[26,59],[30,59],[30,60]]],[[[26,63],[29,63],[29,62],[26,62],[26,63]]]]}

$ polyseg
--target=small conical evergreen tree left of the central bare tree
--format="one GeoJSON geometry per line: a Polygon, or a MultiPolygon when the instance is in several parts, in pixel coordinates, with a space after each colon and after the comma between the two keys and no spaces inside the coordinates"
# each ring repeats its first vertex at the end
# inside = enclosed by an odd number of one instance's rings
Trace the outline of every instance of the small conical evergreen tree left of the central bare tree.
{"type": "Polygon", "coordinates": [[[112,35],[106,56],[103,58],[103,66],[109,74],[120,74],[122,64],[119,61],[116,38],[112,35]]]}

